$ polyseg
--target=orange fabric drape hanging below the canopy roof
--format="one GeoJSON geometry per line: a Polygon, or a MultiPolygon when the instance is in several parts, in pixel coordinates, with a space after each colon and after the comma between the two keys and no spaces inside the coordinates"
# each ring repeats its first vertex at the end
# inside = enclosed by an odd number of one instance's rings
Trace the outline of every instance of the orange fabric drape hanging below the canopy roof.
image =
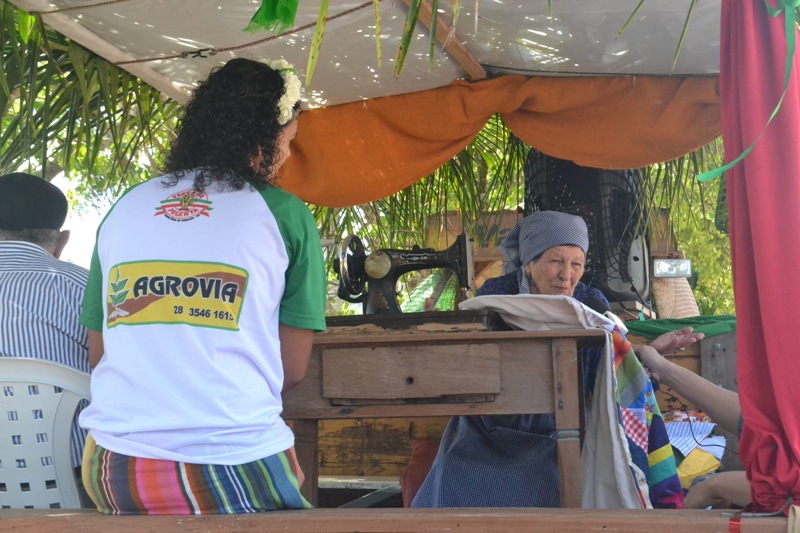
{"type": "Polygon", "coordinates": [[[301,114],[282,187],[331,207],[389,196],[460,152],[494,113],[538,150],[596,168],[667,161],[721,134],[716,77],[457,81],[301,114]]]}

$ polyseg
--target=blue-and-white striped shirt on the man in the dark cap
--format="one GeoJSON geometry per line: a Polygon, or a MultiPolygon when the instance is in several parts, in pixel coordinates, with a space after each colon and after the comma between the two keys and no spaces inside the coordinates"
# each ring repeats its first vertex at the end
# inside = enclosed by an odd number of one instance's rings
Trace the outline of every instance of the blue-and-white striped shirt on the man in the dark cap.
{"type": "MultiPolygon", "coordinates": [[[[78,322],[88,271],[43,248],[0,241],[0,357],[46,359],[90,372],[87,331],[78,322]]],[[[81,464],[86,432],[72,430],[72,462],[81,464]]]]}

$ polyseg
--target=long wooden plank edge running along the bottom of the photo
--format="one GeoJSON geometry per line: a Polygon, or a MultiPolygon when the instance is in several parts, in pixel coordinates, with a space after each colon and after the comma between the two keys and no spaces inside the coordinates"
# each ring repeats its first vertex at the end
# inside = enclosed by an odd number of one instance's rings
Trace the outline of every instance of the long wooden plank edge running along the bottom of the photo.
{"type": "Polygon", "coordinates": [[[0,531],[142,533],[785,533],[783,517],[741,519],[701,510],[312,509],[231,516],[105,516],[93,510],[0,510],[0,531]]]}

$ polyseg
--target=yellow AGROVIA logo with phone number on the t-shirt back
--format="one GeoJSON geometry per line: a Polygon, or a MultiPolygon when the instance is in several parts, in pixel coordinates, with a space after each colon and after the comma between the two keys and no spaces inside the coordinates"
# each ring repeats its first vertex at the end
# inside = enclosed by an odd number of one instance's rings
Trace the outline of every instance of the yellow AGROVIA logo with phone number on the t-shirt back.
{"type": "Polygon", "coordinates": [[[246,270],[222,263],[121,263],[109,273],[108,327],[189,324],[238,331],[246,286],[246,270]]]}

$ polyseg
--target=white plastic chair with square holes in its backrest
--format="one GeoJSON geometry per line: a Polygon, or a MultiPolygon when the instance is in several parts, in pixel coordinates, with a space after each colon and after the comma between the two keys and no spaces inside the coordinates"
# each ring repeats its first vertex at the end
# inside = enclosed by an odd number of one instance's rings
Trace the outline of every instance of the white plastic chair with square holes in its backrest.
{"type": "Polygon", "coordinates": [[[83,398],[88,374],[0,357],[0,508],[80,508],[70,434],[83,398]]]}

